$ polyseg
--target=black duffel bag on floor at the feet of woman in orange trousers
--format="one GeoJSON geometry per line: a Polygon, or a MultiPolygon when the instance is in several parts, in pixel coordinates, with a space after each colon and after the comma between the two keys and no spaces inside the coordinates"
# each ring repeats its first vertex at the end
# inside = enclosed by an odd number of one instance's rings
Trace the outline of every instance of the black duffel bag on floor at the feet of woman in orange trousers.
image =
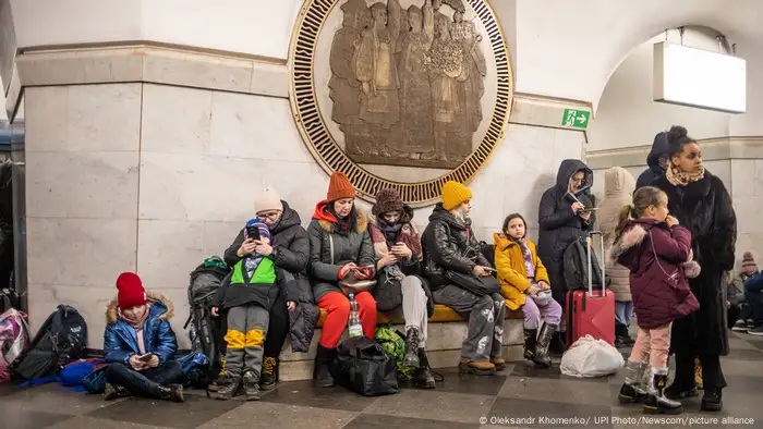
{"type": "Polygon", "coordinates": [[[329,369],[337,384],[363,396],[400,391],[395,357],[365,335],[342,341],[329,369]]]}

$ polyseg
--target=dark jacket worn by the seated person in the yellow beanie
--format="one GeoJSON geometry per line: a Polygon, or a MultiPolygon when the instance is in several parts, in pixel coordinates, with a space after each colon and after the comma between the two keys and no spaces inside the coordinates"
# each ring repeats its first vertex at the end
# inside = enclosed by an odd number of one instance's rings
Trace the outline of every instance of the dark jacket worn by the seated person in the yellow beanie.
{"type": "Polygon", "coordinates": [[[445,272],[471,274],[475,266],[492,267],[480,252],[480,242],[472,233],[471,221],[460,222],[443,204],[429,216],[429,224],[421,238],[424,277],[433,291],[450,283],[445,272]]]}

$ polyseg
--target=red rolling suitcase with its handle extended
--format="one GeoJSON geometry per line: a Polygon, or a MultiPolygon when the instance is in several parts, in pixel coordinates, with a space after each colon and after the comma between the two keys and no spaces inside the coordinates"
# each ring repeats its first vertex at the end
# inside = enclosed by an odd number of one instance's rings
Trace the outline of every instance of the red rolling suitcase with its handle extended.
{"type": "MultiPolygon", "coordinates": [[[[602,240],[602,257],[604,257],[604,238],[601,232],[591,232],[586,237],[586,254],[589,273],[593,268],[591,252],[593,236],[602,240]]],[[[602,265],[602,290],[593,290],[593,275],[589,274],[589,289],[567,293],[567,345],[570,346],[579,338],[591,335],[615,345],[615,294],[606,289],[605,268],[602,265]]]]}

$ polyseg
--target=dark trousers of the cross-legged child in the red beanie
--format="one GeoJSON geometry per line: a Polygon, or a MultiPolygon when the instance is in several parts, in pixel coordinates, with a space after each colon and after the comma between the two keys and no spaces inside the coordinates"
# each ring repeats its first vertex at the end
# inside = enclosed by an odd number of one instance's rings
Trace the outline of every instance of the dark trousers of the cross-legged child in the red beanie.
{"type": "Polygon", "coordinates": [[[106,368],[106,380],[135,396],[159,399],[159,387],[182,383],[183,367],[178,360],[169,360],[160,367],[136,371],[124,364],[112,363],[106,368]]]}

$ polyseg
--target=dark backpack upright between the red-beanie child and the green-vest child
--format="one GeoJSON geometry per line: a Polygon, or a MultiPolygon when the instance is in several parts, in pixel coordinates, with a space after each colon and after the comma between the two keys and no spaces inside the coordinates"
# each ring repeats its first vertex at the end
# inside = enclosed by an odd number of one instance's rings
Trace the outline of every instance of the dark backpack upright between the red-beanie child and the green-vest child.
{"type": "MultiPolygon", "coordinates": [[[[189,378],[197,387],[206,387],[222,367],[225,343],[221,318],[211,316],[215,295],[230,270],[219,257],[211,257],[196,267],[189,284],[189,319],[183,329],[189,330],[191,350],[209,358],[205,373],[192,373],[189,378]]],[[[198,371],[196,371],[198,372],[198,371]]]]}

